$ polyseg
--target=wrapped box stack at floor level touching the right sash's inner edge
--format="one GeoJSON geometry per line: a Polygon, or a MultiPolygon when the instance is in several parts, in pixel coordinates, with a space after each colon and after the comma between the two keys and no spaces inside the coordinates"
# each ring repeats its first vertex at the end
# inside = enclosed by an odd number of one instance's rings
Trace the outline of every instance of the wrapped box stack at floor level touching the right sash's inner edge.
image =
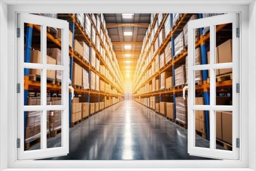
{"type": "Polygon", "coordinates": [[[176,97],[176,120],[187,124],[187,100],[183,97],[176,97]]]}

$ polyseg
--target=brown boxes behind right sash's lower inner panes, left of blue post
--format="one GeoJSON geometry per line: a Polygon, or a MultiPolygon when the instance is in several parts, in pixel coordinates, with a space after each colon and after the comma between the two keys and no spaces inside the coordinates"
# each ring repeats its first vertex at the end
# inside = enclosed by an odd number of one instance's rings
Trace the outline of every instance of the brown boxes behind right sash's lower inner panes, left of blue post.
{"type": "MultiPolygon", "coordinates": [[[[196,97],[196,105],[204,104],[204,97],[196,97]]],[[[205,113],[204,111],[197,110],[195,111],[195,124],[196,130],[205,134],[205,113]]]]}

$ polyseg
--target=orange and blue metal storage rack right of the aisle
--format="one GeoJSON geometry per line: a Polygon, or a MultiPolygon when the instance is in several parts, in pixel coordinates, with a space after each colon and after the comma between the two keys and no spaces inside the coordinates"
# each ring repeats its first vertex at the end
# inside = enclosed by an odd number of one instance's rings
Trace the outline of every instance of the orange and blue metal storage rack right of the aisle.
{"type": "MultiPolygon", "coordinates": [[[[176,26],[173,27],[173,14],[164,14],[164,16],[162,17],[162,20],[160,22],[160,25],[158,26],[157,32],[154,35],[154,38],[152,40],[152,44],[150,45],[150,48],[147,49],[146,55],[144,56],[144,58],[138,60],[137,66],[136,66],[136,73],[135,73],[135,77],[134,77],[134,88],[133,88],[133,98],[136,100],[136,98],[145,98],[145,97],[152,97],[155,96],[155,102],[157,102],[156,98],[159,96],[160,101],[162,101],[162,95],[172,95],[173,96],[173,103],[174,103],[174,120],[176,120],[176,101],[175,101],[175,97],[177,94],[182,93],[182,88],[183,87],[175,87],[175,65],[178,65],[181,62],[185,61],[185,57],[187,56],[187,50],[184,49],[184,52],[176,55],[175,56],[175,44],[174,44],[174,36],[178,35],[184,25],[188,22],[189,18],[191,17],[192,14],[182,14],[179,21],[177,22],[176,26]],[[157,53],[152,57],[152,59],[148,62],[148,65],[145,67],[145,70],[142,72],[142,68],[144,65],[144,62],[146,60],[146,58],[148,57],[148,54],[151,50],[151,47],[154,45],[154,42],[156,41],[156,38],[158,37],[158,34],[160,32],[160,30],[162,29],[162,27],[164,26],[164,22],[167,18],[167,15],[170,15],[170,31],[167,34],[167,36],[165,35],[165,39],[162,40],[162,45],[159,45],[157,53]],[[171,41],[172,42],[172,59],[170,59],[170,61],[168,61],[167,63],[165,63],[164,67],[160,68],[157,72],[155,72],[154,74],[152,74],[151,76],[149,76],[144,82],[140,82],[142,76],[144,76],[146,74],[146,71],[149,70],[151,68],[151,64],[152,62],[155,60],[156,56],[159,54],[161,54],[161,52],[163,52],[163,50],[165,49],[166,45],[168,44],[168,42],[171,41]],[[160,74],[163,73],[164,71],[167,71],[167,69],[172,69],[172,73],[173,73],[173,89],[172,90],[157,90],[154,92],[148,92],[148,93],[142,93],[142,94],[137,94],[137,91],[140,90],[141,88],[143,88],[148,82],[152,81],[154,77],[159,76],[159,80],[160,78],[160,74]]],[[[146,44],[148,43],[148,39],[150,39],[151,37],[151,33],[152,30],[155,27],[156,24],[156,20],[158,18],[158,14],[155,15],[152,25],[149,28],[149,34],[145,43],[144,48],[141,51],[141,55],[140,57],[143,57],[143,54],[145,53],[145,47],[146,44]]],[[[202,18],[202,14],[198,14],[198,18],[202,18]]],[[[216,27],[216,32],[220,31],[222,28],[224,28],[227,24],[224,25],[219,25],[216,27]]],[[[205,46],[205,41],[208,40],[210,38],[209,33],[203,35],[203,28],[200,28],[199,30],[199,34],[200,34],[200,40],[197,41],[195,43],[195,48],[200,47],[201,48],[201,64],[207,64],[207,55],[206,55],[206,46],[205,46]]],[[[160,65],[160,58],[159,58],[159,65],[160,65]]],[[[204,104],[208,105],[209,104],[209,83],[207,83],[207,78],[208,78],[208,72],[207,71],[203,71],[202,72],[202,78],[203,78],[203,84],[202,85],[198,85],[195,87],[196,90],[203,90],[204,93],[204,104]]],[[[185,86],[185,85],[184,85],[185,86]]],[[[232,87],[232,80],[225,80],[225,81],[221,81],[221,82],[216,82],[216,87],[226,87],[226,88],[231,88],[232,87]]],[[[136,100],[137,101],[137,100],[136,100]]],[[[140,101],[138,101],[140,102],[140,101]]],[[[148,106],[147,106],[148,107],[148,106]]],[[[205,112],[205,118],[208,118],[208,111],[205,112]]],[[[209,140],[209,120],[205,119],[205,128],[206,128],[206,139],[209,140]]]]}

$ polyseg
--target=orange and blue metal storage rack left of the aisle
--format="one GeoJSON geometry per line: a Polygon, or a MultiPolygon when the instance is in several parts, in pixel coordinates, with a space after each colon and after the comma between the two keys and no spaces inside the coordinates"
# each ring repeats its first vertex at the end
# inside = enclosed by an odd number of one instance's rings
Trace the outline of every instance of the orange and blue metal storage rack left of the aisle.
{"type": "MultiPolygon", "coordinates": [[[[91,15],[94,15],[94,14],[88,14],[88,15],[91,16],[91,15]]],[[[72,48],[69,50],[69,55],[70,55],[70,79],[71,79],[71,81],[73,79],[73,61],[75,61],[82,68],[84,68],[86,70],[89,70],[89,71],[93,71],[94,73],[99,75],[100,79],[102,79],[105,83],[109,83],[113,88],[115,88],[117,90],[117,94],[113,94],[113,93],[106,93],[105,91],[101,92],[101,91],[93,91],[93,90],[90,90],[90,89],[89,90],[83,90],[83,89],[74,88],[74,93],[76,95],[78,95],[78,94],[86,94],[87,97],[88,97],[87,98],[88,102],[90,102],[90,96],[91,95],[98,96],[98,102],[100,102],[100,97],[118,97],[118,98],[120,98],[120,100],[122,100],[123,95],[124,95],[124,91],[122,89],[122,87],[123,87],[122,86],[123,78],[122,78],[122,76],[120,74],[119,66],[118,65],[114,65],[112,60],[110,60],[111,61],[111,65],[114,68],[115,75],[117,76],[117,77],[115,77],[114,74],[112,73],[112,70],[109,69],[109,67],[106,65],[103,57],[97,51],[95,45],[92,44],[91,38],[81,29],[81,27],[78,24],[78,22],[77,22],[76,18],[74,17],[74,15],[73,14],[61,14],[60,18],[68,20],[69,25],[70,25],[70,31],[73,34],[73,37],[72,37],[72,48]],[[89,60],[90,60],[89,62],[84,61],[82,58],[80,58],[79,56],[74,54],[73,49],[74,49],[74,38],[75,38],[75,32],[76,31],[78,31],[79,34],[81,34],[83,36],[83,39],[85,39],[88,42],[88,44],[90,45],[90,48],[93,48],[95,50],[95,53],[99,57],[101,63],[103,63],[104,67],[110,71],[110,74],[113,77],[113,79],[115,80],[115,82],[110,81],[108,78],[106,78],[104,75],[100,74],[100,72],[98,72],[96,69],[94,69],[91,66],[91,53],[89,55],[89,60]],[[117,67],[117,69],[115,67],[117,67]]],[[[93,23],[92,20],[91,20],[91,22],[92,22],[92,27],[95,27],[95,24],[93,23]]],[[[101,24],[101,29],[104,31],[104,28],[103,28],[101,22],[100,22],[100,24],[101,24]]],[[[33,29],[36,29],[36,30],[38,30],[40,32],[40,26],[33,25],[33,24],[27,24],[26,45],[25,45],[25,59],[24,59],[24,62],[30,62],[31,50],[32,50],[32,33],[33,33],[33,29]]],[[[96,28],[95,28],[95,31],[97,31],[96,28]]],[[[105,32],[104,32],[104,34],[106,36],[105,32]]],[[[107,57],[110,58],[109,54],[107,53],[108,51],[106,51],[106,47],[104,46],[103,40],[101,39],[100,35],[98,33],[96,33],[96,36],[98,36],[102,47],[105,49],[107,57]]],[[[56,39],[51,33],[47,32],[47,38],[49,40],[51,40],[52,43],[55,44],[56,46],[61,47],[61,42],[58,39],[56,39]]],[[[107,43],[111,47],[108,39],[107,39],[107,43]]],[[[112,49],[111,49],[111,53],[112,53],[112,55],[114,54],[112,49]]],[[[115,60],[115,55],[113,55],[113,58],[115,60]]],[[[25,84],[24,85],[24,89],[25,89],[24,90],[24,94],[25,94],[25,96],[24,96],[24,105],[27,105],[28,104],[28,97],[26,96],[26,94],[28,94],[30,89],[40,89],[41,85],[40,85],[40,82],[29,80],[29,69],[25,69],[24,70],[24,84],[25,84]]],[[[90,72],[89,72],[89,84],[90,84],[90,72]]],[[[57,84],[51,84],[51,83],[47,83],[47,88],[51,89],[51,91],[52,90],[61,90],[61,86],[59,86],[57,84]]],[[[71,93],[70,93],[70,95],[69,95],[69,106],[70,106],[70,108],[69,108],[69,121],[70,121],[70,124],[71,124],[71,102],[72,102],[72,100],[71,100],[71,93]]],[[[111,104],[111,105],[113,105],[113,104],[111,104]]],[[[104,107],[104,108],[106,108],[106,107],[104,107]]],[[[25,114],[24,114],[25,120],[26,120],[26,117],[27,117],[27,114],[25,112],[25,114]]],[[[24,126],[26,127],[26,121],[25,121],[25,125],[24,126]]]]}

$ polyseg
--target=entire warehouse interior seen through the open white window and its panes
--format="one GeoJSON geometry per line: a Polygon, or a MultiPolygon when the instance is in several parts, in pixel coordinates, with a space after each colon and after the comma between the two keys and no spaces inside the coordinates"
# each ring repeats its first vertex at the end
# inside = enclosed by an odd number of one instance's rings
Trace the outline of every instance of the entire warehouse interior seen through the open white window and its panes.
{"type": "MultiPolygon", "coordinates": [[[[69,22],[69,154],[44,160],[208,160],[187,152],[189,20],[223,14],[47,13],[69,22]],[[187,92],[186,92],[187,95],[187,92]]],[[[40,26],[24,25],[24,62],[41,63],[40,26]]],[[[216,26],[216,63],[232,62],[232,24],[216,26]]],[[[61,65],[61,29],[47,28],[47,63],[61,65]]],[[[209,28],[195,29],[195,65],[209,64],[209,28]]],[[[41,70],[24,69],[24,105],[41,104],[41,70]]],[[[47,71],[47,105],[62,104],[62,72],[47,71]]],[[[209,71],[195,102],[209,105],[209,71]]],[[[232,68],[216,69],[216,105],[232,105],[232,68]]],[[[209,148],[209,111],[195,111],[209,148]]],[[[47,148],[61,147],[62,112],[47,111],[47,148]]],[[[24,112],[24,149],[41,148],[41,113],[24,112]]],[[[232,151],[232,112],[216,112],[216,148],[232,151]]]]}

